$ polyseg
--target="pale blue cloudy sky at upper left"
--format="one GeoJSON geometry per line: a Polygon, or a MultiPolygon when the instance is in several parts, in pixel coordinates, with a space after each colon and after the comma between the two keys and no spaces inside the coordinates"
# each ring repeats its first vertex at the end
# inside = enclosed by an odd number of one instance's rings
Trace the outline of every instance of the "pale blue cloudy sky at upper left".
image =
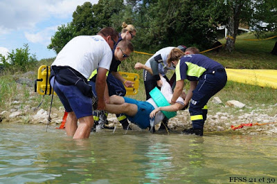
{"type": "Polygon", "coordinates": [[[55,57],[48,50],[51,36],[57,26],[72,21],[72,14],[78,5],[98,0],[1,0],[0,1],[0,54],[24,48],[37,59],[55,57]]]}

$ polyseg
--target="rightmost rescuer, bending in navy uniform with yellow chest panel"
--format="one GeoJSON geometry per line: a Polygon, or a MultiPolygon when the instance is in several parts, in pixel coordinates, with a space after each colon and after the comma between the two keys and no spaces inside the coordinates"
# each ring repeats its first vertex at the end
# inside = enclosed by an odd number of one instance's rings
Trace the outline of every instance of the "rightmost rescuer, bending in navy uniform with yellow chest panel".
{"type": "Polygon", "coordinates": [[[218,91],[223,89],[227,81],[224,66],[213,59],[201,54],[192,54],[187,48],[185,55],[179,49],[172,49],[168,55],[168,64],[176,67],[176,86],[171,99],[175,104],[183,91],[184,80],[190,81],[190,89],[186,95],[185,105],[190,102],[190,120],[193,122],[191,129],[184,129],[184,134],[203,136],[204,122],[208,109],[208,100],[218,91]]]}

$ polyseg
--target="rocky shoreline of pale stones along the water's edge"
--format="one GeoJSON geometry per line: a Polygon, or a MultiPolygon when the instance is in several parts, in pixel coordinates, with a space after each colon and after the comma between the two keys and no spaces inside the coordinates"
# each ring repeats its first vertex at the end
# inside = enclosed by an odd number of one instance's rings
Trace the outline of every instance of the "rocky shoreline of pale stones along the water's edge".
{"type": "MultiPolygon", "coordinates": [[[[0,123],[24,123],[24,124],[42,124],[48,123],[48,110],[37,109],[33,107],[32,99],[37,95],[33,91],[33,81],[24,77],[17,80],[17,88],[20,89],[22,84],[26,84],[30,91],[30,98],[28,102],[25,102],[24,107],[21,106],[22,102],[17,99],[10,102],[10,110],[0,111],[0,123]]],[[[262,107],[253,108],[246,104],[235,100],[229,100],[223,104],[218,97],[213,97],[211,102],[213,106],[217,106],[218,109],[211,109],[208,111],[207,120],[204,125],[205,134],[248,134],[248,135],[273,135],[277,134],[277,114],[268,115],[270,112],[276,112],[277,104],[265,105],[262,107]],[[231,111],[232,110],[232,111],[231,111]],[[231,129],[231,126],[238,128],[231,129]]],[[[64,115],[64,107],[51,110],[51,125],[60,126],[64,115]]],[[[109,127],[121,128],[120,123],[116,119],[115,115],[109,114],[108,119],[109,127]]],[[[132,129],[139,130],[136,125],[130,125],[132,129]]],[[[156,129],[159,129],[159,125],[156,125],[156,129]]],[[[171,118],[168,122],[168,127],[172,131],[181,131],[191,127],[190,115],[188,109],[185,111],[178,111],[177,116],[171,118]]]]}

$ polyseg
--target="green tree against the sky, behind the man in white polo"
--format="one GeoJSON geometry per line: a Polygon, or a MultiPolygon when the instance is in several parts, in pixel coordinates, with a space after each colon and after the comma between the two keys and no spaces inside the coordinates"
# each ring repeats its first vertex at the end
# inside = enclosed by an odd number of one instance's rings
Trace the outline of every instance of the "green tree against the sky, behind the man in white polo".
{"type": "Polygon", "coordinates": [[[59,53],[73,37],[96,35],[101,28],[111,26],[111,16],[118,15],[124,8],[123,0],[100,0],[93,6],[90,2],[77,6],[72,15],[73,21],[67,26],[63,24],[57,28],[47,48],[59,53]]]}

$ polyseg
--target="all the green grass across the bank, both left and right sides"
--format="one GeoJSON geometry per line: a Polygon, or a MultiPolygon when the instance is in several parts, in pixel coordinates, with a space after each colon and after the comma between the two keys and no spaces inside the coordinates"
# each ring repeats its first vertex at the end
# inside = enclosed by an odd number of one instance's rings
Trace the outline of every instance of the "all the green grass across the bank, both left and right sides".
{"type": "MultiPolygon", "coordinates": [[[[273,36],[272,34],[267,35],[267,37],[273,36]]],[[[215,53],[210,51],[204,53],[204,55],[215,59],[220,62],[226,68],[250,68],[250,69],[277,69],[277,56],[271,55],[270,52],[274,47],[277,38],[262,40],[262,41],[245,41],[242,39],[255,39],[253,34],[239,35],[235,42],[235,51],[233,53],[226,53],[223,50],[220,53],[215,53]]],[[[225,39],[220,40],[224,44],[225,39]]],[[[140,50],[138,50],[140,51],[140,50]]],[[[150,55],[141,55],[138,53],[133,53],[131,57],[126,59],[120,64],[120,71],[139,73],[140,75],[140,86],[139,93],[137,95],[130,96],[137,100],[145,100],[145,89],[143,84],[143,71],[136,71],[134,69],[134,64],[136,62],[145,62],[150,58],[150,55]]],[[[51,65],[54,58],[42,59],[35,66],[29,66],[28,71],[35,71],[35,75],[30,76],[30,79],[35,80],[37,78],[37,69],[42,64],[51,65]]],[[[2,73],[3,74],[3,73],[2,73]]],[[[0,75],[0,112],[4,110],[10,110],[10,102],[14,100],[21,100],[22,106],[26,105],[28,101],[31,102],[32,107],[37,107],[39,102],[42,101],[42,95],[35,94],[31,98],[30,89],[26,86],[21,86],[15,82],[15,78],[20,77],[22,73],[17,73],[12,75],[12,73],[5,73],[5,75],[0,75]]],[[[172,73],[169,73],[170,77],[172,73]]],[[[188,82],[186,82],[186,89],[189,88],[188,82]]],[[[33,90],[33,89],[32,89],[33,90]]],[[[253,86],[249,84],[241,84],[237,82],[228,81],[224,89],[217,93],[215,96],[220,97],[222,102],[228,100],[238,100],[247,107],[253,107],[256,109],[265,109],[269,105],[274,105],[277,103],[277,90],[267,87],[253,86]],[[264,105],[265,104],[265,105],[264,105]]],[[[51,96],[45,96],[44,102],[42,103],[42,108],[47,110],[50,107],[51,96]]],[[[208,103],[212,107],[212,113],[222,110],[222,105],[208,103]]],[[[54,97],[53,107],[59,108],[62,106],[60,100],[57,96],[54,97]]],[[[252,109],[249,109],[251,111],[252,109]]],[[[237,109],[229,110],[233,113],[238,113],[237,109]]],[[[277,113],[277,107],[274,107],[271,114],[277,113]]]]}

